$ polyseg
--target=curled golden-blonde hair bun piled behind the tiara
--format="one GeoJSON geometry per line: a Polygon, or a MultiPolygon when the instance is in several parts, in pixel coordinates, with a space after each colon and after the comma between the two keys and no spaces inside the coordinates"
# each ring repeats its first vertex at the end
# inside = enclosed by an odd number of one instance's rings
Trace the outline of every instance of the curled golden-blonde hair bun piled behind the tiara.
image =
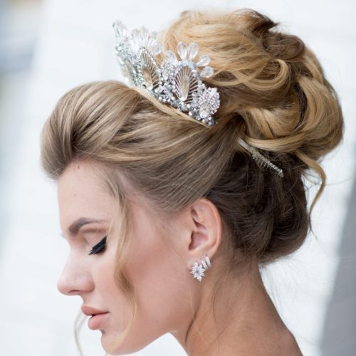
{"type": "Polygon", "coordinates": [[[184,11],[162,42],[172,49],[196,41],[211,58],[206,82],[220,94],[216,130],[233,120],[248,144],[295,155],[320,174],[321,193],[325,174],[315,161],[342,139],[340,102],[313,51],[278,24],[252,9],[184,11]]]}

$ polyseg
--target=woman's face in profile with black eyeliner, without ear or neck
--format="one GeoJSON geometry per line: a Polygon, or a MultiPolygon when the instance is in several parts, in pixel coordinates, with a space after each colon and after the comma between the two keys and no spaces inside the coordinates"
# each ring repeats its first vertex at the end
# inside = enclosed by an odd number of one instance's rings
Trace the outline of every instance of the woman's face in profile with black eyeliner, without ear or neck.
{"type": "MultiPolygon", "coordinates": [[[[115,199],[103,189],[93,167],[89,162],[75,162],[58,180],[60,224],[70,245],[58,290],[66,295],[80,295],[86,307],[107,312],[99,317],[100,325],[96,328],[102,333],[103,348],[108,351],[110,343],[127,327],[131,309],[113,278],[120,236],[108,235],[110,223],[120,211],[115,210],[115,199]],[[107,235],[105,249],[89,254],[107,235]]],[[[140,350],[164,333],[184,329],[184,323],[190,320],[187,286],[192,275],[172,246],[159,236],[145,210],[145,201],[135,197],[132,204],[133,236],[126,268],[137,291],[137,315],[132,332],[113,355],[140,350]]],[[[182,234],[184,230],[178,224],[177,231],[182,234]]],[[[169,236],[172,241],[179,241],[177,238],[178,234],[169,236]]]]}

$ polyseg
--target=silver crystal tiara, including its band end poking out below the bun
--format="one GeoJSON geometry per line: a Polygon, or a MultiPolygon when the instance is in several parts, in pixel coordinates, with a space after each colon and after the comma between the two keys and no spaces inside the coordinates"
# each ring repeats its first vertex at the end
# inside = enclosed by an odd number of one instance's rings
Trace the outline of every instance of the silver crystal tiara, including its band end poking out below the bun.
{"type": "MultiPolygon", "coordinates": [[[[178,59],[173,51],[162,52],[156,31],[149,32],[142,26],[127,36],[126,27],[120,20],[115,20],[112,26],[116,35],[117,61],[130,86],[145,88],[160,102],[187,112],[190,117],[205,125],[216,125],[213,115],[220,105],[219,93],[216,88],[207,87],[201,80],[211,77],[214,70],[209,67],[209,56],[202,54],[194,62],[199,51],[196,42],[189,45],[179,42],[178,59]],[[160,53],[163,60],[159,65],[156,56],[160,53]]],[[[263,157],[256,147],[248,145],[241,138],[239,144],[251,153],[261,167],[273,169],[283,177],[282,169],[263,157]]]]}

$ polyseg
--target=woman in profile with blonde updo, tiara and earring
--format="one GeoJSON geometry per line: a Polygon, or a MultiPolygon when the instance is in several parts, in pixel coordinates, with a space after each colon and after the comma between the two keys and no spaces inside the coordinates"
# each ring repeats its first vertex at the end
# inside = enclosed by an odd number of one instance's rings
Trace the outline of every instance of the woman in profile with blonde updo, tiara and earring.
{"type": "Polygon", "coordinates": [[[315,54],[277,25],[185,11],[158,41],[116,21],[130,86],[80,85],[46,121],[70,244],[58,290],[83,298],[106,352],[171,333],[189,356],[301,355],[260,268],[305,241],[343,119],[315,54]]]}

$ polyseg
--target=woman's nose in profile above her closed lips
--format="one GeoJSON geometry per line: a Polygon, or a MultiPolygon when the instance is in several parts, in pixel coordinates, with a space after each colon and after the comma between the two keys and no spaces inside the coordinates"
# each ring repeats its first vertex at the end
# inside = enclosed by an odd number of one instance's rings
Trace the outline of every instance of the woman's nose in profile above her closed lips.
{"type": "Polygon", "coordinates": [[[68,258],[61,276],[57,281],[57,289],[64,295],[81,295],[93,290],[93,279],[90,271],[80,263],[80,258],[68,258]]]}

